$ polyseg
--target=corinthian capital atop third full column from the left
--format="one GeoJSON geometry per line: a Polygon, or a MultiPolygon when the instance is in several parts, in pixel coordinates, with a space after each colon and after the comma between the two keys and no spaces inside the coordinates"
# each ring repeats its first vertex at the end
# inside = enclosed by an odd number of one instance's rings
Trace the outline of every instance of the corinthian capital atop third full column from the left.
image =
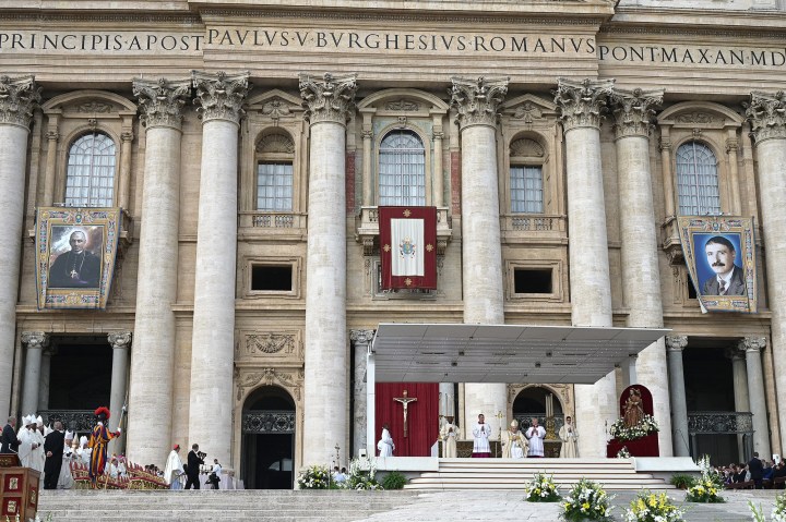
{"type": "Polygon", "coordinates": [[[250,89],[248,78],[248,72],[228,76],[224,71],[216,74],[194,71],[194,102],[200,106],[196,111],[202,122],[226,120],[240,123],[240,117],[245,113],[242,105],[250,89]]]}

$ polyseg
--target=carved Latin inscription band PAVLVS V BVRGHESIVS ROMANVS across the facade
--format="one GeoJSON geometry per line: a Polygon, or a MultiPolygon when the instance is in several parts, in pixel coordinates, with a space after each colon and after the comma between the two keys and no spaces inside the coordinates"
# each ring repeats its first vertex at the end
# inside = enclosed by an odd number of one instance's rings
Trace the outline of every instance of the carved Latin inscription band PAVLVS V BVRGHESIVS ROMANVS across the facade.
{"type": "Polygon", "coordinates": [[[522,33],[427,33],[323,28],[209,28],[204,33],[48,32],[0,29],[0,54],[146,54],[199,56],[205,50],[266,49],[276,52],[354,52],[446,56],[552,56],[619,63],[708,66],[786,65],[786,48],[703,47],[686,45],[611,45],[584,35],[522,33]]]}

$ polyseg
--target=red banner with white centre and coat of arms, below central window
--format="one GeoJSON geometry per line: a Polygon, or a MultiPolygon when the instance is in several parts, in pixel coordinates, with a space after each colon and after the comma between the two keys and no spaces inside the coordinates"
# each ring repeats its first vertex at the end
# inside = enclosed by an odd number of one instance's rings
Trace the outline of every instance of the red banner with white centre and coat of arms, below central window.
{"type": "Polygon", "coordinates": [[[437,289],[437,207],[379,207],[382,289],[437,289]]]}

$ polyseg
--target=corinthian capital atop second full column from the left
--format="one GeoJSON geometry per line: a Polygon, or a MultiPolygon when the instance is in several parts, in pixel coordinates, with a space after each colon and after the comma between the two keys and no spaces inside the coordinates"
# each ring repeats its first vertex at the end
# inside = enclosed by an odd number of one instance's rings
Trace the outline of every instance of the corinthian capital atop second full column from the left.
{"type": "Polygon", "coordinates": [[[182,80],[169,82],[159,78],[152,80],[134,78],[133,95],[139,98],[139,107],[142,116],[142,124],[152,126],[170,126],[180,130],[182,126],[182,113],[180,109],[191,93],[191,81],[182,80]]]}

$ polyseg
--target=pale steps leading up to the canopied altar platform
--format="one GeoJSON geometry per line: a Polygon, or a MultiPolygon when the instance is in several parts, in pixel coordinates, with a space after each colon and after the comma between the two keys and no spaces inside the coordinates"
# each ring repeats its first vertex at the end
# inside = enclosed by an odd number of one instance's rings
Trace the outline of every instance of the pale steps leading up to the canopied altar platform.
{"type": "Polygon", "coordinates": [[[553,475],[564,491],[581,478],[609,490],[674,489],[650,473],[636,473],[630,459],[440,459],[439,471],[421,473],[405,489],[517,489],[535,473],[553,475]]]}

